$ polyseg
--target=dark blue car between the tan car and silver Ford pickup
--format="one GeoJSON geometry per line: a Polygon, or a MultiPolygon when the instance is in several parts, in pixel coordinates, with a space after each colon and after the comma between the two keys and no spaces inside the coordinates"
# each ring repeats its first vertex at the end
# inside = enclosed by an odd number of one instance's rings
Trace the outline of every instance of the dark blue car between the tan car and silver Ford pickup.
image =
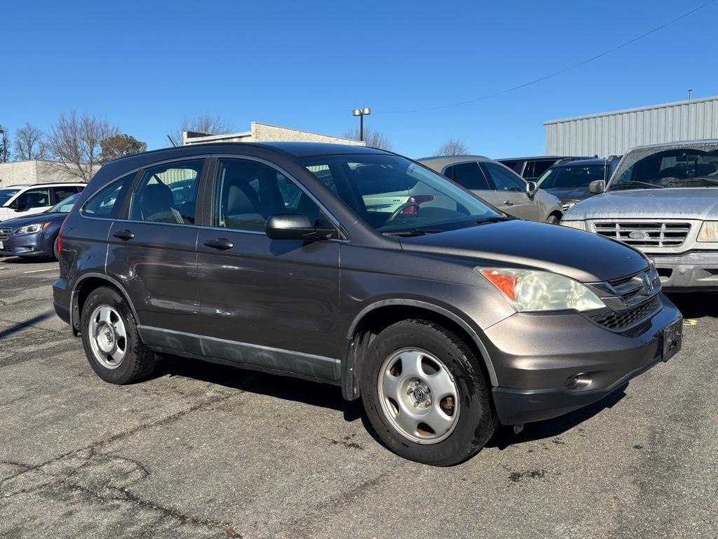
{"type": "Polygon", "coordinates": [[[593,180],[608,181],[618,162],[620,157],[612,155],[608,159],[582,159],[554,165],[538,180],[538,187],[558,197],[565,212],[575,203],[593,196],[589,184],[593,180]]]}

